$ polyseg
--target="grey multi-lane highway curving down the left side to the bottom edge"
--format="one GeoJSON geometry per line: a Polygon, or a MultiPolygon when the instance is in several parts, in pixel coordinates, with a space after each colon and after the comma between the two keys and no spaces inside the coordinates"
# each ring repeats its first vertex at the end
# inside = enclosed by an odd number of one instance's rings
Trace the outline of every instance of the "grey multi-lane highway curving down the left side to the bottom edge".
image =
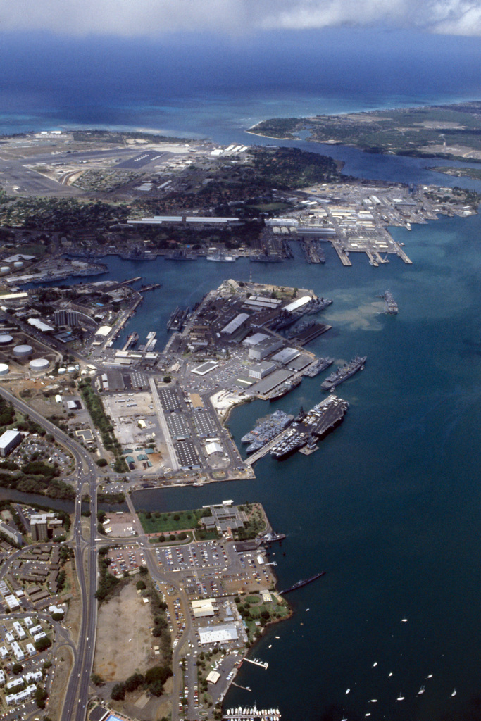
{"type": "Polygon", "coordinates": [[[89,683],[94,663],[95,637],[97,631],[97,473],[96,466],[88,452],[72,441],[60,428],[46,420],[25,402],[15,397],[4,388],[0,388],[0,396],[12,403],[14,407],[45,428],[48,433],[63,446],[69,448],[76,462],[76,499],[73,523],[73,539],[75,565],[81,593],[81,627],[79,643],[76,648],[74,668],[69,678],[63,702],[61,721],[84,721],[89,699],[89,683]],[[81,534],[81,495],[87,485],[90,496],[90,528],[89,538],[85,540],[81,534]]]}

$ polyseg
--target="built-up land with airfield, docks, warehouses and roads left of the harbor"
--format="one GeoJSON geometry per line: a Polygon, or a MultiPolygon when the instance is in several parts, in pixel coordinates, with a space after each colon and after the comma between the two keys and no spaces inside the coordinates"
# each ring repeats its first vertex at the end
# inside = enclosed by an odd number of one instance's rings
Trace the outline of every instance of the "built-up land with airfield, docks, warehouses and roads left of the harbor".
{"type": "MultiPolygon", "coordinates": [[[[237,259],[324,265],[329,249],[330,262],[347,269],[361,253],[379,273],[412,265],[389,228],[468,217],[479,201],[357,181],[310,156],[146,133],[2,138],[2,718],[281,718],[275,698],[224,697],[243,663],[267,667],[257,640],[323,571],[278,588],[283,529],[255,498],[229,500],[228,485],[217,503],[176,511],[142,510],[133,494],[254,479],[265,456],[312,463],[326,435],[356,423],[337,386],[361,384],[369,358],[309,350],[335,331],[336,298],[239,279],[237,259]],[[110,255],[231,265],[169,314],[160,348],[159,327],[144,336],[136,322],[162,277],[112,280],[110,255]],[[271,405],[317,376],[312,408],[271,405]],[[238,445],[227,422],[252,401],[265,412],[238,445]]],[[[387,288],[372,300],[397,314],[387,288]]]]}

